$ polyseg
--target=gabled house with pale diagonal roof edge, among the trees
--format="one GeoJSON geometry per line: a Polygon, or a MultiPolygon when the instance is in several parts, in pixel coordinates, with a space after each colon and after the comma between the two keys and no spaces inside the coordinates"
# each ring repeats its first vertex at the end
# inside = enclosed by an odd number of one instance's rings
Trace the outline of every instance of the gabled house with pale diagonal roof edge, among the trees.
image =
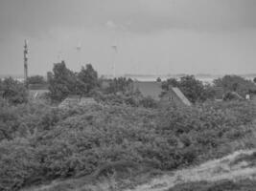
{"type": "Polygon", "coordinates": [[[191,102],[186,96],[176,87],[169,87],[169,91],[161,97],[161,104],[176,103],[180,105],[191,106],[191,102]]]}

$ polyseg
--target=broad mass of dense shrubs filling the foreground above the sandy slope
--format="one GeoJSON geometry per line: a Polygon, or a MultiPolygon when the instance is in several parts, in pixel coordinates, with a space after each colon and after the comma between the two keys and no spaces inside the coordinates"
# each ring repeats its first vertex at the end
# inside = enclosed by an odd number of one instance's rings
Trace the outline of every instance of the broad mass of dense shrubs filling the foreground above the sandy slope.
{"type": "MultiPolygon", "coordinates": [[[[136,166],[172,170],[219,157],[219,149],[251,134],[255,105],[205,103],[162,110],[41,104],[0,108],[10,138],[0,140],[0,186],[18,188],[59,178],[105,175],[136,166]]],[[[129,169],[129,170],[127,170],[129,169]]]]}

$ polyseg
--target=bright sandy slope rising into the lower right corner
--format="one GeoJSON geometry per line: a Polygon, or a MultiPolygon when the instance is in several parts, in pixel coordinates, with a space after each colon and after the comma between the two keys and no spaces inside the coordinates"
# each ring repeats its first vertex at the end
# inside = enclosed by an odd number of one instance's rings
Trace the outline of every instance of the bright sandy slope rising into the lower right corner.
{"type": "Polygon", "coordinates": [[[227,157],[207,161],[199,166],[175,171],[172,175],[164,175],[151,180],[150,183],[137,186],[126,191],[164,191],[177,183],[207,180],[243,180],[256,176],[256,165],[249,166],[247,161],[232,164],[232,161],[241,156],[250,156],[256,150],[237,151],[227,157]]]}

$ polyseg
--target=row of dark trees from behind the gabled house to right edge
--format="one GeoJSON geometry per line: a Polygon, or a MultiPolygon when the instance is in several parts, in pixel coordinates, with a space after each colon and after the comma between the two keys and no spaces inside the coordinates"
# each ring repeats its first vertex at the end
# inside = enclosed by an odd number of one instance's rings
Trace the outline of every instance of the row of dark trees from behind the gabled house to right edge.
{"type": "Polygon", "coordinates": [[[164,95],[170,87],[178,87],[193,103],[214,99],[220,93],[223,97],[230,95],[232,92],[243,97],[245,97],[246,94],[256,93],[255,82],[239,75],[224,75],[221,78],[215,79],[213,84],[203,84],[202,81],[196,79],[194,75],[183,76],[180,80],[169,78],[162,82],[162,95],[164,95]]]}

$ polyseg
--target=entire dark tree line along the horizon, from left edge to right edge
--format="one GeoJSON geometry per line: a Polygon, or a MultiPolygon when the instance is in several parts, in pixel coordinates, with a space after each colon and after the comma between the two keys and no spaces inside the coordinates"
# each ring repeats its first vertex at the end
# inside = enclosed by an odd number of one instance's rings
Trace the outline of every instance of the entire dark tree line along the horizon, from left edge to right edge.
{"type": "MultiPolygon", "coordinates": [[[[240,96],[256,94],[255,79],[247,80],[238,75],[224,75],[215,79],[213,84],[204,84],[194,75],[185,75],[179,80],[169,78],[157,82],[162,85],[164,96],[170,87],[178,87],[181,92],[192,102],[204,102],[213,100],[218,95],[226,99],[232,98],[235,92],[240,96]],[[220,93],[221,92],[221,93],[220,93]]],[[[105,79],[98,76],[97,71],[91,64],[81,67],[80,72],[73,72],[66,67],[64,61],[54,64],[53,71],[48,72],[47,79],[41,75],[33,75],[28,78],[29,85],[47,85],[52,101],[59,102],[67,96],[94,96],[102,101],[111,103],[126,103],[133,106],[155,106],[151,97],[143,97],[133,87],[133,80],[126,77],[105,79]]],[[[29,92],[26,86],[13,78],[0,80],[0,95],[12,104],[28,102],[29,92]]]]}

